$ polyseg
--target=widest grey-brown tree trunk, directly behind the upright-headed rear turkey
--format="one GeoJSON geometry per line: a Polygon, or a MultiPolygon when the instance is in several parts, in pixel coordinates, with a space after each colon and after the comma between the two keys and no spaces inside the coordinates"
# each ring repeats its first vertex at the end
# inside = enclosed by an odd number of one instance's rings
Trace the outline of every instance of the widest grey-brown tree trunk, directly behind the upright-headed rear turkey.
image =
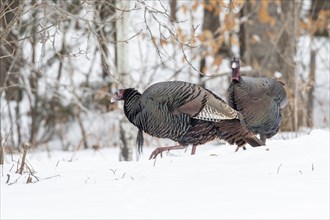
{"type": "Polygon", "coordinates": [[[247,21],[241,25],[240,30],[243,62],[258,70],[259,76],[274,77],[275,72],[282,73],[281,80],[286,84],[289,97],[281,126],[286,131],[296,131],[301,123],[298,120],[298,84],[294,61],[300,3],[246,1],[241,14],[247,16],[247,21]]]}

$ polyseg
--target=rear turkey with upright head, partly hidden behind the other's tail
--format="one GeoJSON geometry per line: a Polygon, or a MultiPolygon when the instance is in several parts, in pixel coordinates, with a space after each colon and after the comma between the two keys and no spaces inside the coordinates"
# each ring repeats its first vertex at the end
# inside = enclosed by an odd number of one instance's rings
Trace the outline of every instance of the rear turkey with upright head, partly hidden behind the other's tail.
{"type": "Polygon", "coordinates": [[[231,62],[232,82],[228,89],[228,104],[242,113],[246,127],[266,138],[273,137],[279,130],[281,109],[288,103],[284,83],[266,77],[248,77],[240,75],[237,58],[231,62]]]}

